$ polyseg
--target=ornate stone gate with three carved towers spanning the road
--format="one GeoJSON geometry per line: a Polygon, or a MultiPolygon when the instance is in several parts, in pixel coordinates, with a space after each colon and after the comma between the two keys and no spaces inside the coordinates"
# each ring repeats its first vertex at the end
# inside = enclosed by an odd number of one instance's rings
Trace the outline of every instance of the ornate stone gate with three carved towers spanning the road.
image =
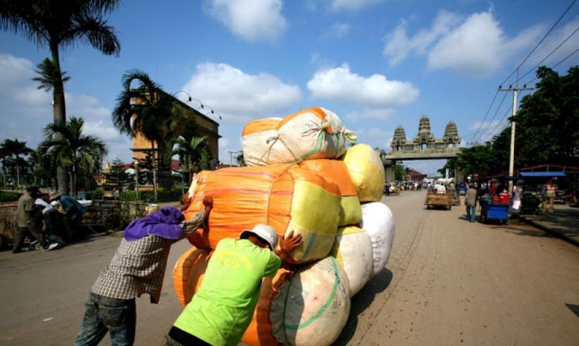
{"type": "Polygon", "coordinates": [[[430,131],[430,119],[423,114],[418,133],[412,141],[407,140],[404,128],[399,125],[390,142],[392,151],[382,155],[382,162],[386,168],[386,181],[394,180],[396,161],[449,159],[460,153],[458,145],[460,145],[460,137],[453,121],[448,121],[446,124],[442,138],[435,138],[430,131]]]}

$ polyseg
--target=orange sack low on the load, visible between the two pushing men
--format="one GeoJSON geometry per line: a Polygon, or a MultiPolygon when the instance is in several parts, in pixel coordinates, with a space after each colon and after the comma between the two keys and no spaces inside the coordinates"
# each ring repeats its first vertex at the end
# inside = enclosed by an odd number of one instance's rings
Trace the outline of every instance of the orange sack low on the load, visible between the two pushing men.
{"type": "Polygon", "coordinates": [[[191,302],[197,287],[201,285],[211,253],[208,250],[191,247],[179,256],[177,263],[175,263],[173,287],[181,306],[185,307],[191,302]]]}

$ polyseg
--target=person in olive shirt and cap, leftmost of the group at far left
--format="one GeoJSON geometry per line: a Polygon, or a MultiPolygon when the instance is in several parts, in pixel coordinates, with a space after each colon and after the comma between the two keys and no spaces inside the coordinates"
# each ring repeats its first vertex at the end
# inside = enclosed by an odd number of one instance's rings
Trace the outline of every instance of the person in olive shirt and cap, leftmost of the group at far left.
{"type": "Polygon", "coordinates": [[[42,232],[40,232],[42,211],[34,203],[37,196],[38,188],[36,186],[28,186],[26,193],[18,198],[18,206],[16,207],[16,226],[18,231],[12,246],[12,253],[20,252],[27,236],[34,237],[39,244],[38,249],[44,250],[44,238],[42,237],[42,232]]]}

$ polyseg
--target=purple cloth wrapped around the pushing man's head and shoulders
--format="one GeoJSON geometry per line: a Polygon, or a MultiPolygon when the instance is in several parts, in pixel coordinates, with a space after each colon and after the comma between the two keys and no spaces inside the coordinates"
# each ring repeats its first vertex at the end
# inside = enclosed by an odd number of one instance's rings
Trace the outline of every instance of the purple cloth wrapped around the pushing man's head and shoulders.
{"type": "Polygon", "coordinates": [[[165,239],[181,239],[183,229],[180,224],[183,220],[183,214],[179,209],[171,206],[164,207],[142,219],[133,220],[126,227],[124,238],[127,241],[134,241],[153,234],[165,239]]]}

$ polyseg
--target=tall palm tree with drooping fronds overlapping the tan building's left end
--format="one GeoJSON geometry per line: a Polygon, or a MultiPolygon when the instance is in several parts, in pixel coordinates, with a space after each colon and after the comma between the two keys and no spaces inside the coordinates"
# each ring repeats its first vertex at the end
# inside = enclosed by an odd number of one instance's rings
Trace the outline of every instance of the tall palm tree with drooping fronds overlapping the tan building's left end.
{"type": "Polygon", "coordinates": [[[112,112],[114,127],[119,132],[134,138],[141,133],[151,143],[153,156],[153,191],[157,200],[157,165],[170,154],[170,143],[177,128],[181,128],[175,106],[177,100],[161,90],[147,73],[141,70],[130,70],[123,75],[123,90],[117,97],[117,105],[112,112]],[[136,88],[131,83],[136,82],[136,88]],[[157,150],[155,150],[157,143],[157,150]],[[155,159],[155,153],[157,158],[155,159]]]}

